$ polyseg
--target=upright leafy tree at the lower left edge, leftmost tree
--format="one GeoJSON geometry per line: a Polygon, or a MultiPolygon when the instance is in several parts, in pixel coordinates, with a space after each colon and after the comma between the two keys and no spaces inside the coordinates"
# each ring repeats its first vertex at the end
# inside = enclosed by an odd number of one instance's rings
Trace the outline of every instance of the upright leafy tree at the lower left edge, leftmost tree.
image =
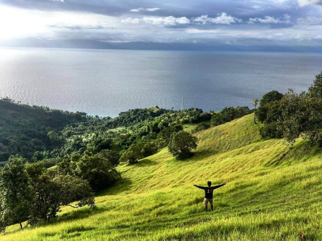
{"type": "Polygon", "coordinates": [[[0,172],[0,210],[2,231],[5,226],[27,220],[32,202],[24,159],[10,157],[0,172]]]}

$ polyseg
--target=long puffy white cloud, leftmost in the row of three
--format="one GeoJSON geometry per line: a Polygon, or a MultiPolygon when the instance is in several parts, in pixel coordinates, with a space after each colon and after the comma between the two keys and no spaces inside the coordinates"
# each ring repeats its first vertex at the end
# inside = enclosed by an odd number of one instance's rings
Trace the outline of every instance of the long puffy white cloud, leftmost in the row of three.
{"type": "Polygon", "coordinates": [[[175,18],[174,16],[168,17],[144,17],[138,18],[126,18],[122,19],[123,23],[145,23],[150,25],[177,25],[177,24],[189,24],[190,20],[186,17],[175,18]]]}

